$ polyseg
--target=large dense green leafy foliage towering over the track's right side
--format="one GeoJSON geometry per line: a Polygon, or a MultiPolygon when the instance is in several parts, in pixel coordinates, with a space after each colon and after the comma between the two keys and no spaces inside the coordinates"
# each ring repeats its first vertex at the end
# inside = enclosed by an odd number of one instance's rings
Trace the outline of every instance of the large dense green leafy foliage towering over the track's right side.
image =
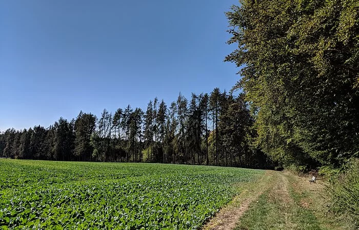
{"type": "Polygon", "coordinates": [[[338,166],[359,152],[359,5],[242,1],[226,61],[243,68],[257,146],[284,165],[338,166]]]}

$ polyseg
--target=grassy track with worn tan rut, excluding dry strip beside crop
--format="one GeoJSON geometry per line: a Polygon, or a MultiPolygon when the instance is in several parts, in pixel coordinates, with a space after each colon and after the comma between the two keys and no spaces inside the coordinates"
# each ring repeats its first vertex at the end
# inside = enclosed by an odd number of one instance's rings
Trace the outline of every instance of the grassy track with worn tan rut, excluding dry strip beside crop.
{"type": "Polygon", "coordinates": [[[350,229],[328,216],[324,181],[311,184],[288,172],[271,175],[270,186],[262,188],[234,229],[350,229]]]}

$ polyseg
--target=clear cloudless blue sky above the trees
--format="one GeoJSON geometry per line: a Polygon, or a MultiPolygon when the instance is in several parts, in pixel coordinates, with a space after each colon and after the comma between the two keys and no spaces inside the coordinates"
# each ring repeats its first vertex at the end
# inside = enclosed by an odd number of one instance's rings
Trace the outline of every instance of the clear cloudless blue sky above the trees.
{"type": "Polygon", "coordinates": [[[237,0],[0,0],[0,130],[80,110],[167,104],[238,80],[224,15],[237,0]]]}

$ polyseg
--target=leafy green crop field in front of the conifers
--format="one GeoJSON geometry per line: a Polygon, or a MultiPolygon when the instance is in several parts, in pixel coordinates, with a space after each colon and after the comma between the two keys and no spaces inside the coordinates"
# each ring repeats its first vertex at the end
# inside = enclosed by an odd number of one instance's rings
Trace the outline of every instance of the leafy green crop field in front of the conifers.
{"type": "Polygon", "coordinates": [[[0,159],[3,229],[198,229],[261,170],[0,159]]]}

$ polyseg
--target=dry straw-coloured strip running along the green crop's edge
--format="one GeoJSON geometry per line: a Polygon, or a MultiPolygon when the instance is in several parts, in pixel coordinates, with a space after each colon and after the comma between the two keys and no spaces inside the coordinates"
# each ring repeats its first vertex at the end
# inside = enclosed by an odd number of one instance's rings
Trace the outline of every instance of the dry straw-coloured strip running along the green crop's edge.
{"type": "Polygon", "coordinates": [[[248,210],[250,204],[270,188],[271,181],[275,174],[273,171],[266,171],[265,175],[254,184],[248,183],[246,189],[236,197],[215,217],[213,217],[204,227],[204,230],[229,230],[234,229],[238,220],[248,210]],[[266,189],[263,189],[266,188],[266,189]]]}

